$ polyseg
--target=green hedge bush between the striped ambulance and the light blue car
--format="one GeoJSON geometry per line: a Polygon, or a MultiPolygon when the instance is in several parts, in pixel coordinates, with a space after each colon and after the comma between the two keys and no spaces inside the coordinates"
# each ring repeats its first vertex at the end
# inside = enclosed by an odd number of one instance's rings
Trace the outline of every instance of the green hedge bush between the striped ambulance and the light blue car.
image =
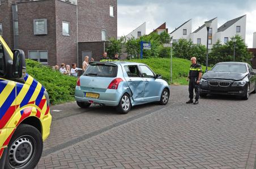
{"type": "Polygon", "coordinates": [[[63,75],[37,61],[26,60],[27,73],[48,91],[50,103],[59,104],[74,100],[77,78],[63,75]]]}

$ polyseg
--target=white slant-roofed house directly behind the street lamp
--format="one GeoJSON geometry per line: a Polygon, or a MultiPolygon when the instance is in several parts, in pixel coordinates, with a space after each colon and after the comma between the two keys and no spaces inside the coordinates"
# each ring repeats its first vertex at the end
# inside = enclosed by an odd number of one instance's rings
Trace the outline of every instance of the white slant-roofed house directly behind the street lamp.
{"type": "MultiPolygon", "coordinates": [[[[208,48],[211,49],[212,45],[216,43],[216,32],[217,32],[217,17],[211,19],[211,27],[209,29],[208,48]]],[[[207,28],[205,24],[200,26],[197,30],[190,34],[190,39],[194,44],[207,45],[207,28]]]]}

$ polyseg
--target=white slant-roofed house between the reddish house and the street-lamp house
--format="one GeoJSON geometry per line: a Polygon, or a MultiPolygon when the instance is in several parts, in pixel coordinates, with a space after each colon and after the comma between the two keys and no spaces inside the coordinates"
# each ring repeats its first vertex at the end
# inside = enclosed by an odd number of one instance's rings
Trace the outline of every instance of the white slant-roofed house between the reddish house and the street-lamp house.
{"type": "Polygon", "coordinates": [[[187,39],[189,41],[190,34],[192,30],[192,21],[191,19],[183,23],[182,25],[175,28],[173,32],[170,33],[170,37],[172,37],[173,42],[178,41],[178,39],[187,39]]]}

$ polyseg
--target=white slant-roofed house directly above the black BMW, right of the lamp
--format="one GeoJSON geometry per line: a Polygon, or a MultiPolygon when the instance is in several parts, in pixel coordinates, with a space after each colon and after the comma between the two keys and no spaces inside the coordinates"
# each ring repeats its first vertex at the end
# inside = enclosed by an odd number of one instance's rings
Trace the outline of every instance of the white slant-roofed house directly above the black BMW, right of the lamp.
{"type": "Polygon", "coordinates": [[[227,21],[217,29],[216,39],[220,39],[221,43],[231,41],[236,34],[240,35],[245,41],[246,32],[246,15],[237,17],[227,21]]]}

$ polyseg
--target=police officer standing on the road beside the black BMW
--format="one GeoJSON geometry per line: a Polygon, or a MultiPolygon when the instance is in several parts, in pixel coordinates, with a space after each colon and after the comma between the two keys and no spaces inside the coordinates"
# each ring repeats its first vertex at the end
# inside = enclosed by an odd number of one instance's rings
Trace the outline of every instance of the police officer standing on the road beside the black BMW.
{"type": "Polygon", "coordinates": [[[199,99],[199,82],[202,77],[202,66],[197,63],[197,58],[191,57],[191,65],[189,69],[189,76],[187,77],[187,81],[189,81],[189,101],[186,103],[193,103],[193,95],[195,89],[195,102],[194,104],[198,104],[199,99]]]}

